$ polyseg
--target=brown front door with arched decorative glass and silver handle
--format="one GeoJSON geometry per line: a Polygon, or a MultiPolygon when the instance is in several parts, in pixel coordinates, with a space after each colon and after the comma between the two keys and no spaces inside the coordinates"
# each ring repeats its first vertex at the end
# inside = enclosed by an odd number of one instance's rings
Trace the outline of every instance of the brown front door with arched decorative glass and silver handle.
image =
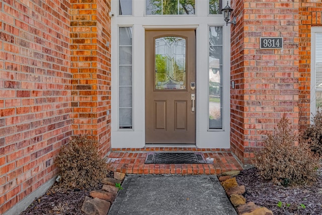
{"type": "Polygon", "coordinates": [[[145,31],[145,142],[196,143],[194,29],[145,31]]]}

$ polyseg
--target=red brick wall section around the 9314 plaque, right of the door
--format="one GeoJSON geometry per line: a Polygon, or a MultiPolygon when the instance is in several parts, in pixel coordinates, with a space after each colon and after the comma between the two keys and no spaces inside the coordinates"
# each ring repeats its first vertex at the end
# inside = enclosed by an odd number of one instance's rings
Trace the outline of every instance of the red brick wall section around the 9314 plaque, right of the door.
{"type": "Polygon", "coordinates": [[[297,128],[299,0],[240,2],[231,3],[231,149],[249,163],[284,113],[297,128]],[[283,49],[260,49],[260,37],[283,37],[283,49]]]}

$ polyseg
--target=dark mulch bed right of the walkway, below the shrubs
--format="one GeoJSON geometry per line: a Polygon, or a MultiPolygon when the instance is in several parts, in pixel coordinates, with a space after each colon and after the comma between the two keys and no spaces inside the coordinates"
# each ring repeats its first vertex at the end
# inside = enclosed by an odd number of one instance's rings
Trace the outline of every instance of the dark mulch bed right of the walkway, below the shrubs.
{"type": "Polygon", "coordinates": [[[236,181],[238,185],[245,185],[247,202],[267,207],[275,215],[322,214],[322,174],[311,186],[283,187],[261,179],[258,170],[252,168],[241,171],[236,181]],[[281,207],[277,206],[279,201],[281,207]]]}

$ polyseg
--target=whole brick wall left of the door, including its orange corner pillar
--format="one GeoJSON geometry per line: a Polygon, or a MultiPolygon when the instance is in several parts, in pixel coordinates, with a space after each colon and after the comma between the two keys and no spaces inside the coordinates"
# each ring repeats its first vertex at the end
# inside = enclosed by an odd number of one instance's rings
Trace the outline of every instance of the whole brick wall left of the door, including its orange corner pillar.
{"type": "Polygon", "coordinates": [[[57,174],[72,135],[110,142],[110,1],[0,2],[0,214],[57,174]]]}

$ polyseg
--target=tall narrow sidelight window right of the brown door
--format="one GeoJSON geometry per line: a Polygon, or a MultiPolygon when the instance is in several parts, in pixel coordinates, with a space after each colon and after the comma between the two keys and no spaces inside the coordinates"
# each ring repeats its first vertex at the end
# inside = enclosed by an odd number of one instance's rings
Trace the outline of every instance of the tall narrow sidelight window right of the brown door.
{"type": "Polygon", "coordinates": [[[209,128],[222,128],[222,26],[209,27],[209,128]]]}

